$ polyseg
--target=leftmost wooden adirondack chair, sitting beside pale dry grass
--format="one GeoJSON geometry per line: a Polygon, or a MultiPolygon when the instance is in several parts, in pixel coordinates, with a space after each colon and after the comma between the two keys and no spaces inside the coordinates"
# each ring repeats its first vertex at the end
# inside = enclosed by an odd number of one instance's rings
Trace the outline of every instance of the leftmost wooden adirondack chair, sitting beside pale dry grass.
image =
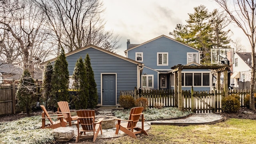
{"type": "Polygon", "coordinates": [[[54,128],[58,128],[60,126],[66,127],[67,121],[64,120],[63,114],[48,114],[44,105],[40,105],[40,107],[43,110],[43,112],[42,112],[42,127],[41,128],[54,129],[54,128]],[[50,117],[50,116],[54,116],[54,117],[50,117]],[[52,121],[52,118],[57,118],[58,120],[54,122],[54,121],[52,121]],[[48,119],[50,121],[50,124],[45,124],[45,119],[48,119]]]}

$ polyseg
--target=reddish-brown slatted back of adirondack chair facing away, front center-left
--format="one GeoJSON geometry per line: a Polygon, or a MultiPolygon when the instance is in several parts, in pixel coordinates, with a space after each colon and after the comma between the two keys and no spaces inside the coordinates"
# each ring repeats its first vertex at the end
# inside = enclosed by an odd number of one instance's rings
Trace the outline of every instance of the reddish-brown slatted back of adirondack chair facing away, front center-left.
{"type": "Polygon", "coordinates": [[[94,131],[94,122],[95,122],[95,111],[94,110],[78,110],[76,111],[78,116],[78,121],[82,126],[82,129],[87,132],[94,131]]]}

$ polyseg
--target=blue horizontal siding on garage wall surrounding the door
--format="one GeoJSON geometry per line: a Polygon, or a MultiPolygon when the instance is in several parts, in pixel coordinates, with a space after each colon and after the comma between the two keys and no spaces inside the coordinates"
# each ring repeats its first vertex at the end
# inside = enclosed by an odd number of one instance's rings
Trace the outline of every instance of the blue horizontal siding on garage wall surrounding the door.
{"type": "Polygon", "coordinates": [[[120,90],[134,90],[134,87],[137,86],[137,65],[112,56],[100,50],[94,48],[87,48],[75,54],[66,57],[68,61],[68,71],[70,76],[74,72],[74,67],[76,61],[80,56],[84,59],[86,54],[90,56],[90,62],[92,70],[94,71],[94,79],[97,84],[98,91],[98,104],[100,104],[101,96],[101,73],[116,73],[117,78],[117,102],[120,96],[120,90]]]}

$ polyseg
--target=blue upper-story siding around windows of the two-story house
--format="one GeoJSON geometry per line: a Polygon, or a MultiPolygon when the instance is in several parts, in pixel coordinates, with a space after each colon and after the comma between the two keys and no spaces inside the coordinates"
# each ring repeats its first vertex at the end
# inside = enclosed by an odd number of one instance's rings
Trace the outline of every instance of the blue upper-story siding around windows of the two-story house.
{"type": "Polygon", "coordinates": [[[187,64],[187,52],[197,52],[188,46],[160,37],[156,40],[128,50],[128,58],[135,60],[135,53],[143,52],[143,62],[145,66],[153,69],[170,69],[177,64],[187,64]],[[168,66],[157,66],[157,52],[168,52],[168,66]]]}

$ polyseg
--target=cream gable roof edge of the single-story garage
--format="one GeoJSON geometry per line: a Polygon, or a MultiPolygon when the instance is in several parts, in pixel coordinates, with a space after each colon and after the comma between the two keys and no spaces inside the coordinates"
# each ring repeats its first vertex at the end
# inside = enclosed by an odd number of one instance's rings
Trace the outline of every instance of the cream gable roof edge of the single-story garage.
{"type": "MultiPolygon", "coordinates": [[[[103,49],[103,48],[99,48],[99,47],[94,46],[94,45],[92,45],[92,44],[90,44],[90,45],[88,45],[88,46],[85,46],[85,47],[83,47],[83,48],[79,48],[79,49],[77,49],[77,50],[74,50],[74,51],[72,51],[72,52],[68,52],[67,54],[65,54],[65,56],[67,57],[67,56],[70,56],[70,55],[72,55],[72,54],[76,54],[76,53],[81,52],[82,50],[86,50],[86,49],[88,49],[88,48],[94,48],[94,49],[96,49],[96,50],[100,50],[100,51],[102,51],[102,52],[105,52],[105,53],[110,54],[110,55],[112,55],[112,56],[115,56],[115,57],[117,57],[117,58],[121,58],[121,59],[126,60],[126,61],[128,61],[128,62],[132,62],[132,63],[134,63],[134,64],[138,64],[139,66],[143,66],[143,65],[144,65],[144,64],[142,64],[142,63],[140,63],[140,62],[136,62],[135,60],[132,60],[132,59],[130,59],[130,58],[126,58],[126,57],[124,57],[124,56],[121,56],[121,55],[116,54],[116,53],[114,53],[114,52],[110,52],[110,51],[105,50],[105,49],[103,49]]],[[[48,60],[48,61],[54,62],[55,60],[57,60],[57,58],[58,58],[58,57],[53,58],[53,59],[48,60]]],[[[41,63],[41,65],[44,66],[45,64],[48,63],[48,61],[41,63]]]]}

